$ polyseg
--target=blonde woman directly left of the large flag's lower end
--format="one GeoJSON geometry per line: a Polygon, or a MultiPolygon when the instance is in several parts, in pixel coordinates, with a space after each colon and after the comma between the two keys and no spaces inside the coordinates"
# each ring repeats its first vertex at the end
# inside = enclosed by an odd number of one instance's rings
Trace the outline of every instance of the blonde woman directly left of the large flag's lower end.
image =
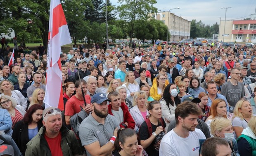
{"type": "Polygon", "coordinates": [[[43,109],[45,109],[45,104],[43,103],[43,99],[45,99],[45,91],[41,88],[35,89],[32,94],[32,100],[29,107],[34,104],[39,104],[40,106],[43,107],[43,109]]]}

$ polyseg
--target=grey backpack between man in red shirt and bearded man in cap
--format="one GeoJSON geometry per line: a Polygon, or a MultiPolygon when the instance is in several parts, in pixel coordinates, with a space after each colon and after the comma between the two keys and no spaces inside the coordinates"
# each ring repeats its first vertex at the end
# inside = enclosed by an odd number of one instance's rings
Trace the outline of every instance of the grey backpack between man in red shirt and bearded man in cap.
{"type": "MultiPolygon", "coordinates": [[[[81,106],[80,106],[81,107],[81,106]]],[[[82,107],[81,107],[82,108],[82,107]]],[[[83,119],[85,119],[86,117],[88,117],[89,115],[85,112],[85,110],[83,110],[83,108],[81,109],[80,112],[76,113],[75,115],[73,115],[70,118],[70,126],[72,128],[72,130],[75,132],[75,134],[79,137],[79,133],[78,133],[78,129],[80,124],[82,123],[83,119]]]]}

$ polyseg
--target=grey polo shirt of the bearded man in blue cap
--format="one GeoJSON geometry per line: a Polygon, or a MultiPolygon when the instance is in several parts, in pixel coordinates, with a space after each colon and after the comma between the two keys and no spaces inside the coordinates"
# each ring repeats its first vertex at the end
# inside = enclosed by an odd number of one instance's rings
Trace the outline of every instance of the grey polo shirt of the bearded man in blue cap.
{"type": "MultiPolygon", "coordinates": [[[[118,121],[112,115],[107,115],[105,123],[100,124],[92,117],[92,112],[86,117],[79,126],[79,137],[82,146],[90,145],[93,142],[99,141],[100,147],[107,144],[114,134],[116,127],[120,128],[118,121]]],[[[91,154],[86,151],[87,156],[91,154]]]]}

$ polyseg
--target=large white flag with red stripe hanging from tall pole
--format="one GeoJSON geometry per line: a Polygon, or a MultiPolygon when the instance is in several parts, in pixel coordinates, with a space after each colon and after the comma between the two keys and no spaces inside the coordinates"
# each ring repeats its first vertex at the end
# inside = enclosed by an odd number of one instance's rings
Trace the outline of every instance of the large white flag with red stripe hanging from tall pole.
{"type": "Polygon", "coordinates": [[[47,49],[45,108],[64,110],[62,94],[61,46],[71,44],[69,28],[59,0],[51,0],[47,49]]]}

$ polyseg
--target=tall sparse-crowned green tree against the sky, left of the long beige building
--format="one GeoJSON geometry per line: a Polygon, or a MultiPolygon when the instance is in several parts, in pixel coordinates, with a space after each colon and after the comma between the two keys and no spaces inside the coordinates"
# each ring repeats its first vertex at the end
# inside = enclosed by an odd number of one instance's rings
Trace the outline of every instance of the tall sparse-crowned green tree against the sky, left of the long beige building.
{"type": "Polygon", "coordinates": [[[156,4],[156,0],[118,0],[121,3],[117,7],[119,17],[126,21],[129,25],[125,29],[126,33],[130,37],[130,46],[132,44],[132,37],[134,36],[134,26],[136,19],[149,19],[149,14],[154,14],[157,8],[153,5],[156,4]]]}

